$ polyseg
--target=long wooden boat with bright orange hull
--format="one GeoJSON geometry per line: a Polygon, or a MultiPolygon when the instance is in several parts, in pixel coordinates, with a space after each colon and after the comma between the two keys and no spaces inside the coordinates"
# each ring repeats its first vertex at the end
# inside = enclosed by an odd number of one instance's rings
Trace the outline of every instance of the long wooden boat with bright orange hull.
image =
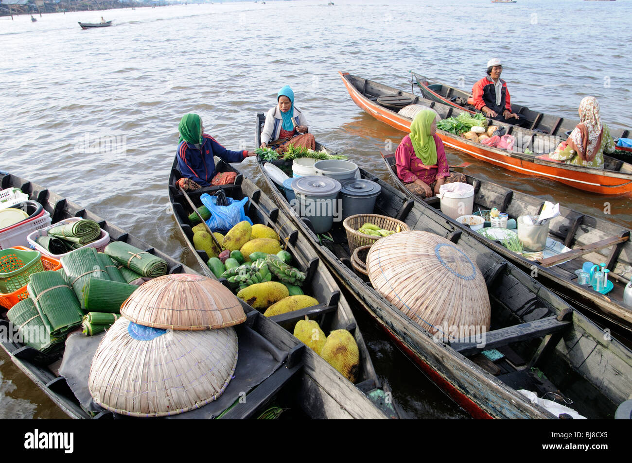
{"type": "MultiPolygon", "coordinates": [[[[391,107],[392,105],[399,105],[399,108],[410,104],[430,107],[437,111],[442,119],[458,116],[465,111],[424,99],[419,95],[413,95],[413,93],[403,92],[371,80],[352,76],[349,73],[341,72],[340,75],[351,99],[358,106],[376,119],[406,133],[410,132],[412,119],[392,111],[385,104],[391,107]]],[[[600,170],[537,159],[538,154],[554,151],[562,138],[498,121],[493,121],[493,124],[504,127],[507,134],[516,137],[516,147],[513,151],[488,147],[442,130],[437,130],[437,135],[448,147],[503,169],[546,177],[600,195],[614,196],[632,192],[632,164],[604,156],[605,166],[603,170],[600,170]],[[525,150],[529,150],[531,153],[527,153],[525,150]]]]}

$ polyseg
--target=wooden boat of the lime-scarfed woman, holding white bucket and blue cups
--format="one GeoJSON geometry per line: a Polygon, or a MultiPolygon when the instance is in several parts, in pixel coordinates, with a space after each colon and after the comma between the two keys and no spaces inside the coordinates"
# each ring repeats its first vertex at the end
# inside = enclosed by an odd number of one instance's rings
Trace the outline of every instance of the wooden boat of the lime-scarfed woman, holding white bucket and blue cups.
{"type": "MultiPolygon", "coordinates": [[[[632,338],[632,308],[623,304],[623,291],[632,277],[632,243],[630,231],[608,220],[560,206],[560,216],[551,220],[549,237],[564,244],[571,251],[566,258],[532,256],[531,259],[507,250],[499,241],[491,241],[468,225],[460,224],[441,212],[441,201],[437,196],[419,198],[413,195],[399,180],[395,165],[395,155],[382,154],[394,184],[408,198],[418,201],[437,214],[437,220],[447,220],[482,243],[500,253],[504,258],[529,274],[537,275],[537,280],[566,299],[577,308],[588,310],[623,328],[622,333],[632,338]],[[538,260],[533,260],[538,258],[538,260]],[[613,289],[607,295],[594,291],[590,284],[579,285],[574,273],[584,262],[605,263],[610,270],[609,280],[613,289]]],[[[513,219],[520,215],[540,213],[544,201],[518,193],[489,181],[466,176],[474,186],[474,211],[498,208],[513,219]]]]}

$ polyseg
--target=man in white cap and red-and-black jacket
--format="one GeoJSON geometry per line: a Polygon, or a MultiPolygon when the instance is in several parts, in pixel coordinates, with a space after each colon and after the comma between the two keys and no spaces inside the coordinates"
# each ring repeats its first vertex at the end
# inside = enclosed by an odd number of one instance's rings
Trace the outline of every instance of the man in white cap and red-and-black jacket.
{"type": "Polygon", "coordinates": [[[501,73],[500,58],[487,61],[487,77],[483,77],[472,87],[474,105],[487,117],[509,124],[518,124],[520,118],[518,114],[511,112],[507,83],[501,79],[501,73]],[[515,120],[511,121],[513,118],[515,120]]]}

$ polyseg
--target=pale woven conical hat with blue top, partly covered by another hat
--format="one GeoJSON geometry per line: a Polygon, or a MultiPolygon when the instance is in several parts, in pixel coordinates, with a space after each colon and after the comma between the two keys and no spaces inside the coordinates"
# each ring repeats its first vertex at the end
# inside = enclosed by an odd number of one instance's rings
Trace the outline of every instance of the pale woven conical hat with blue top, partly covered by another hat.
{"type": "Polygon", "coordinates": [[[95,402],[130,416],[168,416],[216,400],[237,364],[234,328],[176,331],[116,320],[92,358],[95,402]]]}

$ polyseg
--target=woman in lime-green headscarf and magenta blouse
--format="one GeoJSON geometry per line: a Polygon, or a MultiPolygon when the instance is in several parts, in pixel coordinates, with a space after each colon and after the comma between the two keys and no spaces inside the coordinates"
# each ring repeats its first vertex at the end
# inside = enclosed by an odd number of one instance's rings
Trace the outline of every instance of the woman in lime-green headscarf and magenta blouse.
{"type": "Polygon", "coordinates": [[[463,174],[451,173],[446,151],[437,135],[437,113],[418,112],[395,152],[397,174],[413,194],[428,198],[439,194],[444,183],[465,182],[463,174]]]}

